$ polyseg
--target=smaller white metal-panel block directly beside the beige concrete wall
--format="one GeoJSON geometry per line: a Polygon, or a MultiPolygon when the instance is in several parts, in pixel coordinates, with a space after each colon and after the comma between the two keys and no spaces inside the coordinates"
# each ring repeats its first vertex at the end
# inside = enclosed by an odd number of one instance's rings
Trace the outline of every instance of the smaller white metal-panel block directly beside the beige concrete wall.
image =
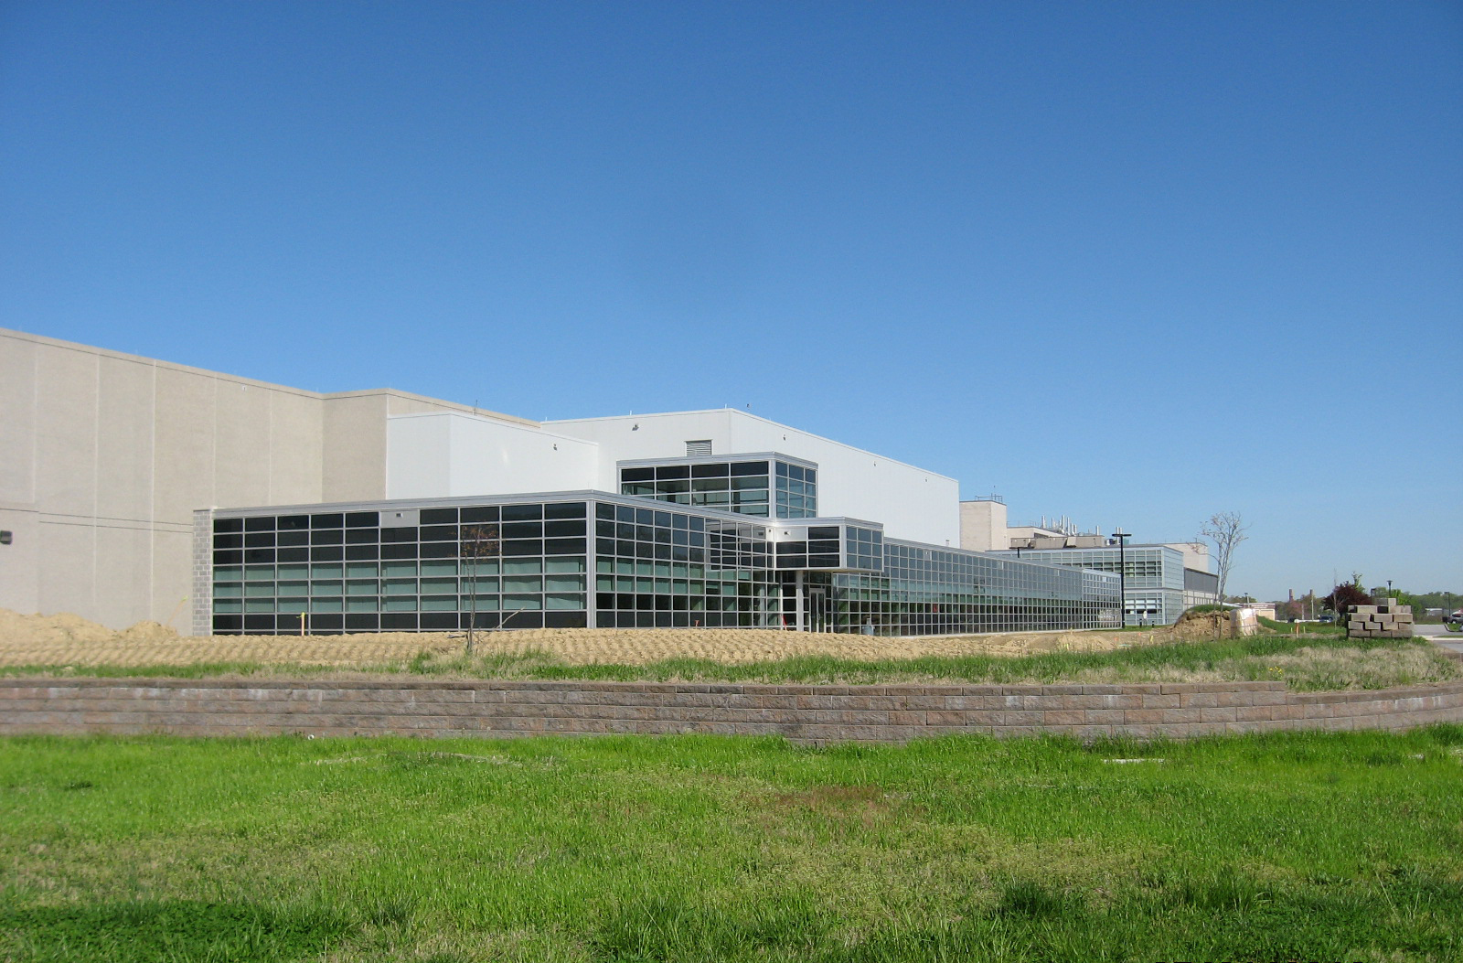
{"type": "Polygon", "coordinates": [[[595,487],[598,446],[527,424],[456,413],[386,419],[386,498],[595,487]]]}

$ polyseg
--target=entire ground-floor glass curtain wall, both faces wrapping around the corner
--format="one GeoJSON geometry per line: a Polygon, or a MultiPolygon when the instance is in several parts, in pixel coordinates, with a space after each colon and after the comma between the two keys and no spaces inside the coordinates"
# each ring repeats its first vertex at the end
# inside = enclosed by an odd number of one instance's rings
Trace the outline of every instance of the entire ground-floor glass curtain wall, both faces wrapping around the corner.
{"type": "Polygon", "coordinates": [[[633,501],[217,515],[214,631],[796,626],[799,599],[834,632],[1116,625],[1116,575],[633,501]]]}

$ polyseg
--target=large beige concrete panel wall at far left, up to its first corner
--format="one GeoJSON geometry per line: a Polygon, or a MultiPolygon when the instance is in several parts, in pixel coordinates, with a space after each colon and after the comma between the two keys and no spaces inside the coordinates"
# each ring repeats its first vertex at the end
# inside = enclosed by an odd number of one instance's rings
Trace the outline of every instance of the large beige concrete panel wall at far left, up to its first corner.
{"type": "Polygon", "coordinates": [[[0,604],[186,628],[193,509],[320,501],[322,404],[0,329],[0,604]]]}

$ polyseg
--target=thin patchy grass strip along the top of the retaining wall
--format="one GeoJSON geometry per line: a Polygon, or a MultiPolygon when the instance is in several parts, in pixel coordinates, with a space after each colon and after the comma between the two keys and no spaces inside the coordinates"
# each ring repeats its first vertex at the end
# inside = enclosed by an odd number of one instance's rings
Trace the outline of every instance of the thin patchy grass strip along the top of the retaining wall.
{"type": "MultiPolygon", "coordinates": [[[[590,679],[651,682],[790,683],[1053,683],[1053,682],[1216,682],[1283,681],[1296,691],[1381,689],[1447,682],[1459,662],[1426,640],[1347,640],[1340,635],[1252,635],[1220,641],[1132,645],[1103,653],[1053,651],[1031,656],[926,656],[854,660],[797,656],[743,664],[708,659],[666,659],[648,664],[569,664],[549,653],[486,654],[474,659],[421,653],[399,663],[361,666],[372,672],[442,679],[590,679]]],[[[222,675],[310,678],[341,675],[328,666],[205,663],[180,666],[4,666],[0,676],[176,676],[222,675]]]]}

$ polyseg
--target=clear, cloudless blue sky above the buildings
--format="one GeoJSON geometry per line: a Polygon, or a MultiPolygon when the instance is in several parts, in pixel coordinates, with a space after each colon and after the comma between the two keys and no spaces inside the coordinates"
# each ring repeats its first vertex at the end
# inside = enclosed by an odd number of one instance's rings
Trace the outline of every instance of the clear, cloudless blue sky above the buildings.
{"type": "Polygon", "coordinates": [[[1463,4],[0,3],[0,325],[1463,590],[1463,4]]]}

